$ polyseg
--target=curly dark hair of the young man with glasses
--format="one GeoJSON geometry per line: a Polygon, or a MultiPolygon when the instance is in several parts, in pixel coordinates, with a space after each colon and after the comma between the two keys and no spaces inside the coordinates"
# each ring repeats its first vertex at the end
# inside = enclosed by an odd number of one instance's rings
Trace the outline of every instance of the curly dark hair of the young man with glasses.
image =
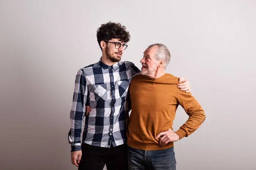
{"type": "Polygon", "coordinates": [[[100,46],[101,41],[108,41],[112,38],[119,38],[123,42],[130,41],[130,34],[126,31],[126,27],[122,26],[120,23],[112,23],[109,21],[108,23],[102,24],[97,30],[97,41],[100,46]]]}

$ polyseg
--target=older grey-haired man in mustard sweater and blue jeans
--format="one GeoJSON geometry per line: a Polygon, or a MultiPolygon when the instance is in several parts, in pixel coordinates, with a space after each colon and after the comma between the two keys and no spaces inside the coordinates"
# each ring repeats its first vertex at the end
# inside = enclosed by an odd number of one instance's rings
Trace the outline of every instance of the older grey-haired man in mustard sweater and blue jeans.
{"type": "Polygon", "coordinates": [[[141,74],[131,80],[127,130],[131,170],[176,170],[173,142],[189,136],[204,122],[204,111],[196,99],[179,91],[178,78],[165,72],[169,61],[170,52],[165,45],[150,45],[140,61],[141,74]],[[189,119],[174,132],[172,125],[178,105],[189,119]]]}

